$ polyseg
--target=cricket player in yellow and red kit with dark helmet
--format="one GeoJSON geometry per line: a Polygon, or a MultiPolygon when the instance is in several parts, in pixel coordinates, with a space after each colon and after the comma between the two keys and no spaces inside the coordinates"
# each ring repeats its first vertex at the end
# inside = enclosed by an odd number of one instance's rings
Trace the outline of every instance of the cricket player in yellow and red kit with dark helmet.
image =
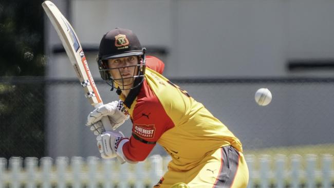
{"type": "Polygon", "coordinates": [[[87,117],[102,158],[136,163],[158,143],[172,160],[154,187],[247,186],[242,143],[205,106],[162,76],[164,63],[145,56],[135,33],[116,28],[103,35],[97,62],[102,79],[120,98],[87,117]],[[103,116],[114,129],[129,117],[131,137],[104,131],[103,116]]]}

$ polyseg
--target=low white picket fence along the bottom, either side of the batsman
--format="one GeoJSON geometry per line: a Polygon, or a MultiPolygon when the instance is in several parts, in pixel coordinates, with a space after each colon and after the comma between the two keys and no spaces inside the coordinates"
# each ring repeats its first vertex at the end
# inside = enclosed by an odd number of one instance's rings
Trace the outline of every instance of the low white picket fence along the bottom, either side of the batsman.
{"type": "MultiPolygon", "coordinates": [[[[332,187],[332,155],[246,155],[250,171],[248,187],[332,187]]],[[[0,158],[0,188],[7,187],[152,187],[170,157],[155,155],[137,164],[119,164],[97,157],[0,158]]]]}

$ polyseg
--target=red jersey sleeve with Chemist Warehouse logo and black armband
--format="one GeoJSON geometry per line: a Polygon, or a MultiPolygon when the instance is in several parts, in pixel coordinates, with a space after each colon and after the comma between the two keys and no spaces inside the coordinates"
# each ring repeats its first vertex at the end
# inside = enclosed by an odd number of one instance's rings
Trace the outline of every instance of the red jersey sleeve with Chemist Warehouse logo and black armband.
{"type": "Polygon", "coordinates": [[[150,95],[143,98],[138,96],[132,117],[132,136],[123,146],[124,156],[132,161],[146,159],[161,135],[174,126],[158,98],[146,86],[144,82],[145,93],[149,92],[150,95]]]}

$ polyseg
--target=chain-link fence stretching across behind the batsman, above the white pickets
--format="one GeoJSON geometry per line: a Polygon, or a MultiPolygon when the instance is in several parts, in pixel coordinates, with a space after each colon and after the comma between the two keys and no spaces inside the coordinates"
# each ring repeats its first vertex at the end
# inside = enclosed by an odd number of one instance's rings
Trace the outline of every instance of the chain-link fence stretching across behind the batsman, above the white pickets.
{"type": "MultiPolygon", "coordinates": [[[[334,144],[333,78],[172,81],[226,124],[246,152],[334,144]],[[254,101],[261,87],[272,92],[268,106],[254,101]]],[[[97,86],[105,102],[117,99],[102,81],[97,86]]],[[[84,125],[92,109],[76,79],[0,79],[0,157],[97,156],[95,137],[84,125]]],[[[129,136],[131,122],[120,130],[129,136]]],[[[165,155],[158,146],[152,154],[165,155]]]]}

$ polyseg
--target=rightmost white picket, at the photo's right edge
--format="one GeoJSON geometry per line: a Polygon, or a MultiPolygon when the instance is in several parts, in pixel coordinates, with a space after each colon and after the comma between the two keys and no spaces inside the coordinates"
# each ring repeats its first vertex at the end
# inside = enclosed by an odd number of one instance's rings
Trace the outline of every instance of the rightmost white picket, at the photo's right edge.
{"type": "Polygon", "coordinates": [[[322,182],[323,188],[332,187],[331,185],[331,167],[333,156],[329,154],[322,155],[322,182]]]}

